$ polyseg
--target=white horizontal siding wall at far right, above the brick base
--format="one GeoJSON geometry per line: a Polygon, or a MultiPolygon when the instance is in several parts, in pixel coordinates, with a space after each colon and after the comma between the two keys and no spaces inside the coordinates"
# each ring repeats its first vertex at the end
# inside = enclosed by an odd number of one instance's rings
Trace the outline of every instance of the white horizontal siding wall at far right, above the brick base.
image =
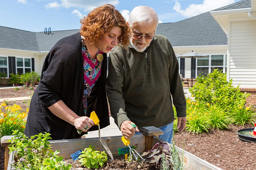
{"type": "Polygon", "coordinates": [[[233,85],[256,88],[256,20],[230,23],[229,79],[233,85]]]}

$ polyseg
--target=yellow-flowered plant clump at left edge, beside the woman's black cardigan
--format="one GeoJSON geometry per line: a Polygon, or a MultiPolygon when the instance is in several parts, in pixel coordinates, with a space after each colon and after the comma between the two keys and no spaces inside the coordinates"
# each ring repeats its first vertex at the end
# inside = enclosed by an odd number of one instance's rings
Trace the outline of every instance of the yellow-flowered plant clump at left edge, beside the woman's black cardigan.
{"type": "Polygon", "coordinates": [[[12,130],[24,132],[26,116],[29,109],[23,112],[19,105],[6,106],[0,104],[0,137],[12,135],[12,130]]]}

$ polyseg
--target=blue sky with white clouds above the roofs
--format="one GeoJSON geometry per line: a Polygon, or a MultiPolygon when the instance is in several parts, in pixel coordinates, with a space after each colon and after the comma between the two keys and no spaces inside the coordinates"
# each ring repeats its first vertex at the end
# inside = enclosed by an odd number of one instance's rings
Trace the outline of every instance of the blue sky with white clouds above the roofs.
{"type": "Polygon", "coordinates": [[[110,3],[128,20],[136,6],[149,6],[159,23],[175,23],[240,0],[0,0],[0,26],[32,32],[80,28],[93,8],[110,3]]]}

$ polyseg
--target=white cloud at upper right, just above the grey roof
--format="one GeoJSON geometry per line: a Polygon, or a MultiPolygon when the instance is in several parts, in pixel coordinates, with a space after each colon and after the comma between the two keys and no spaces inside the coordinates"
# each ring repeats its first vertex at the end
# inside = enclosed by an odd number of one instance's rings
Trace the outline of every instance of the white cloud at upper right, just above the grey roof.
{"type": "Polygon", "coordinates": [[[181,9],[180,3],[175,2],[173,9],[182,14],[183,17],[193,17],[207,11],[234,3],[234,0],[204,0],[202,4],[190,4],[185,10],[181,9]]]}

